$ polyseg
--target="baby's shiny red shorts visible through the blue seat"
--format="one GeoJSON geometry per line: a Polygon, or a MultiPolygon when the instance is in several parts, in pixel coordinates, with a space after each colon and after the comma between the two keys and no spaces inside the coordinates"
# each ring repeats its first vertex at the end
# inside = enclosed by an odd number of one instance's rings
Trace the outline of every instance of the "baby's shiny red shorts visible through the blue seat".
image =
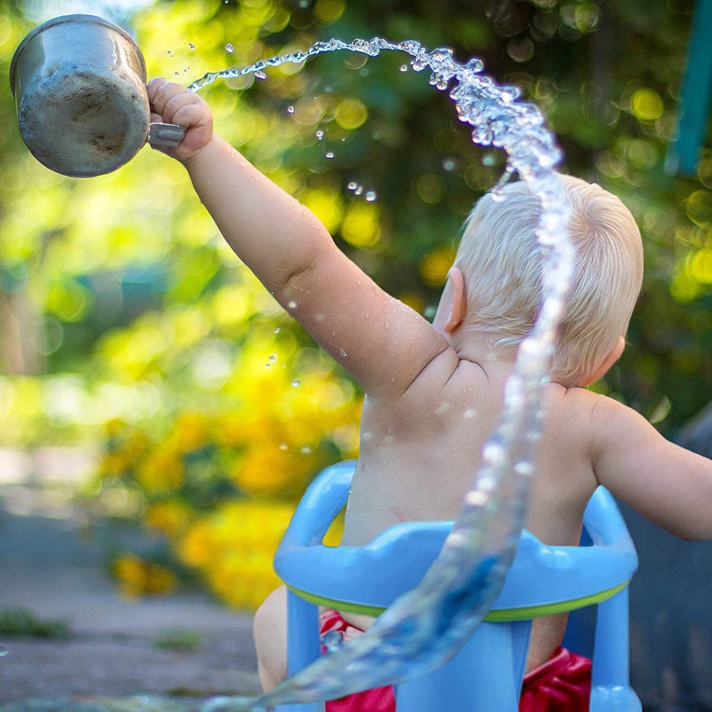
{"type": "MultiPolygon", "coordinates": [[[[322,639],[335,631],[342,640],[363,632],[334,610],[321,614],[319,630],[322,639]]],[[[325,652],[324,646],[321,651],[325,652]]],[[[590,695],[590,659],[559,648],[543,665],[525,675],[519,712],[588,712],[590,695]]],[[[395,708],[392,687],[357,692],[326,703],[326,712],[395,712],[395,708]]]]}

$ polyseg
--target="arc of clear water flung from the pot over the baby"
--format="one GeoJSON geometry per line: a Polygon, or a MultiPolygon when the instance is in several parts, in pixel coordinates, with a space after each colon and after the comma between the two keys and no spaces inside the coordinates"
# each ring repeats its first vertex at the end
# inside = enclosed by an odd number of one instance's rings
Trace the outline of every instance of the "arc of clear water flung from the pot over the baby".
{"type": "Polygon", "coordinates": [[[518,101],[517,88],[499,86],[482,75],[480,60],[461,64],[454,61],[450,49],[428,52],[413,40],[398,44],[381,38],[317,42],[307,51],[208,73],[189,88],[197,91],[219,78],[261,72],[285,62],[302,63],[335,50],[371,57],[382,50],[402,51],[412,56],[413,70],[431,70],[431,85],[439,90],[453,85],[450,98],[459,119],[473,127],[473,142],[506,152],[506,170],[499,185],[518,172],[540,198],[543,213],[538,240],[545,255],[544,299],[518,350],[505,387],[503,414],[483,448],[481,468],[464,498],[459,519],[421,584],[394,602],[365,634],[330,651],[271,692],[248,701],[216,698],[206,706],[206,712],[265,712],[276,704],[333,699],[435,669],[460,649],[499,595],[526,513],[534,471],[533,445],[543,425],[542,389],[548,382],[573,261],[565,229],[567,206],[554,172],[560,151],[540,110],[518,101]]]}

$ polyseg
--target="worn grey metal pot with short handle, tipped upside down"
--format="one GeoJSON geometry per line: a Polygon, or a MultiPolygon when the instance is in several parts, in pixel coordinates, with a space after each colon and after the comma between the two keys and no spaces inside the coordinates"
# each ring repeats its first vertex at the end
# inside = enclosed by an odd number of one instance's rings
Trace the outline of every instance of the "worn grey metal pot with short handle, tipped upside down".
{"type": "Polygon", "coordinates": [[[10,84],[23,141],[39,162],[66,176],[114,171],[150,133],[152,143],[173,146],[185,134],[150,125],[141,51],[129,33],[100,17],[66,15],[34,28],[15,51],[10,84]]]}

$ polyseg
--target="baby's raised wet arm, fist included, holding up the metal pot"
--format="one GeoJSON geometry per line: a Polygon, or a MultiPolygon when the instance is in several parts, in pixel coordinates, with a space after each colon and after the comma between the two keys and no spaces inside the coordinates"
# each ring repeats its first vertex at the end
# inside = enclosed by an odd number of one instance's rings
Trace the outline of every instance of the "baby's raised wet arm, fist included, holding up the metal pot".
{"type": "Polygon", "coordinates": [[[367,393],[402,394],[446,350],[444,337],[350,261],[310,210],[211,130],[194,140],[192,129],[205,133],[209,117],[199,97],[153,80],[149,98],[156,118],[189,127],[169,153],[184,162],[228,244],[367,393]]]}

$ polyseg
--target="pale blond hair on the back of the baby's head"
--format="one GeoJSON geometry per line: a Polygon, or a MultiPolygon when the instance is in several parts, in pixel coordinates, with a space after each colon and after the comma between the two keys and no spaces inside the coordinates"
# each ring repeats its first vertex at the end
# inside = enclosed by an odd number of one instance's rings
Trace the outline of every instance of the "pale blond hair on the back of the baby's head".
{"type": "MultiPolygon", "coordinates": [[[[643,246],[626,206],[597,184],[561,175],[576,260],[553,355],[565,385],[591,377],[624,335],[643,278],[643,246]]],[[[467,330],[484,333],[496,355],[513,355],[542,300],[536,240],[541,205],[522,181],[477,201],[455,266],[464,274],[467,330]]]]}

